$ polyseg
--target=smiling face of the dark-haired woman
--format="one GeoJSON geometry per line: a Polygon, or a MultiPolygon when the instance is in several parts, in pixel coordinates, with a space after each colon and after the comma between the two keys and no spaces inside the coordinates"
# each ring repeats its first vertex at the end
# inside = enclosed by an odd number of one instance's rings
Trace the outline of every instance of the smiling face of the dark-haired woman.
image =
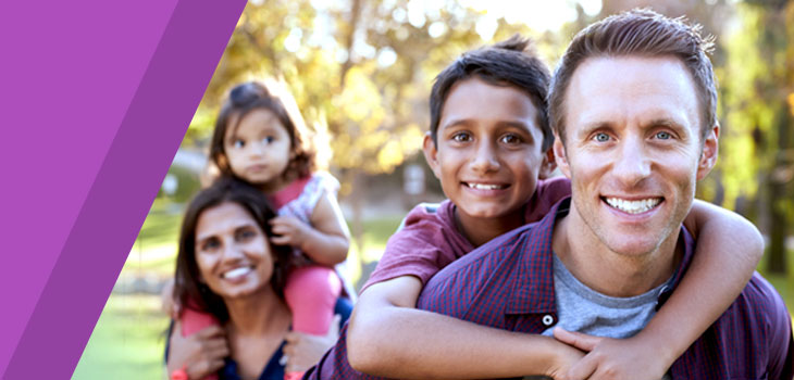
{"type": "Polygon", "coordinates": [[[196,225],[196,264],[201,280],[224,300],[270,287],[273,255],[268,237],[237,203],[204,210],[196,225]]]}

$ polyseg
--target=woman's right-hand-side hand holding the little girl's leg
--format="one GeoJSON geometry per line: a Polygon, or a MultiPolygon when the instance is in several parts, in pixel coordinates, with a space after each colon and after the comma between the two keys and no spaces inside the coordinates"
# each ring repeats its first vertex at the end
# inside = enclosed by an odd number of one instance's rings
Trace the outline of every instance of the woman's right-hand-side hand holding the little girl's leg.
{"type": "Polygon", "coordinates": [[[335,315],[325,335],[289,331],[285,338],[287,344],[284,346],[284,355],[287,357],[285,372],[303,372],[320,362],[339,339],[339,320],[342,317],[335,315]]]}

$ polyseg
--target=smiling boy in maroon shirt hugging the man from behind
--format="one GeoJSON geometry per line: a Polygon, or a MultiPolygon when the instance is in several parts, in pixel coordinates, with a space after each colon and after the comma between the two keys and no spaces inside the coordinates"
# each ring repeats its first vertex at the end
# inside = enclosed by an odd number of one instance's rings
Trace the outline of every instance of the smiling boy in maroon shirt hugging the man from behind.
{"type": "MultiPolygon", "coordinates": [[[[513,37],[463,54],[436,78],[424,153],[449,200],[435,212],[414,208],[405,228],[389,239],[349,330],[343,331],[313,378],[370,378],[352,368],[399,378],[561,378],[582,358],[579,350],[547,337],[414,308],[422,287],[441,268],[499,235],[538,220],[570,194],[569,182],[560,179],[536,189],[537,179],[554,168],[546,113],[550,76],[526,48],[526,40],[513,37]]],[[[682,288],[642,332],[612,342],[624,354],[598,355],[598,365],[633,378],[661,378],[750,277],[762,249],[752,225],[703,202],[693,208],[688,225],[700,227],[699,254],[682,288]],[[727,230],[736,239],[720,242],[716,231],[727,230]],[[745,243],[739,249],[735,241],[745,243]],[[697,294],[703,287],[721,294],[703,300],[697,294]],[[700,313],[687,314],[682,322],[687,309],[700,313]],[[677,333],[670,334],[673,328],[677,333]]]]}

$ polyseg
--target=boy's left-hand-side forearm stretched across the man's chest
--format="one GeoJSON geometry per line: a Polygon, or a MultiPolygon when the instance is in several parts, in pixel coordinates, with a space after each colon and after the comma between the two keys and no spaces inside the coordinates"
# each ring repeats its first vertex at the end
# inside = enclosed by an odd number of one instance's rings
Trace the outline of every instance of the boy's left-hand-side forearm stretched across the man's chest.
{"type": "Polygon", "coordinates": [[[561,378],[582,357],[554,339],[510,332],[414,308],[413,276],[374,283],[350,317],[347,353],[361,372],[406,379],[561,378]]]}

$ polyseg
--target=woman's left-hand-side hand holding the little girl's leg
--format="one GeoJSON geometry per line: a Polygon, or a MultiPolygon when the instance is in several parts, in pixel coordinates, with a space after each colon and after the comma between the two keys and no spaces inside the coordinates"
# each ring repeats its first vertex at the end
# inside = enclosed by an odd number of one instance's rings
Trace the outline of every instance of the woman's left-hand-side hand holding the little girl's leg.
{"type": "Polygon", "coordinates": [[[228,356],[228,342],[224,330],[210,326],[189,337],[182,335],[182,324],[176,320],[169,343],[169,373],[185,369],[188,379],[203,379],[223,367],[228,356]]]}

